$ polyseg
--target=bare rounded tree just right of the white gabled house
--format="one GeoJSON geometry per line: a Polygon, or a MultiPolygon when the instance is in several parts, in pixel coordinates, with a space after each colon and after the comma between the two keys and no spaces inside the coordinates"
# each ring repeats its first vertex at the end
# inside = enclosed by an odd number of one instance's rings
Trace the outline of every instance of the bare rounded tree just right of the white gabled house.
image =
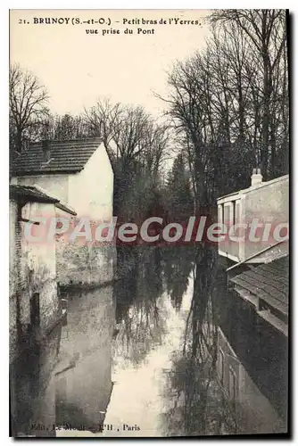
{"type": "Polygon", "coordinates": [[[85,112],[90,133],[103,139],[112,161],[114,211],[123,219],[143,218],[157,196],[168,127],[156,123],[141,106],[106,99],[85,112]]]}

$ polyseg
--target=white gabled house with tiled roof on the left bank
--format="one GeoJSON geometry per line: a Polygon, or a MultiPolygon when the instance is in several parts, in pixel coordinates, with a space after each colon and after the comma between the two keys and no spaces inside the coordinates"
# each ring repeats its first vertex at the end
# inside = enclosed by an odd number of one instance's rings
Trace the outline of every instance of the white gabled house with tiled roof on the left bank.
{"type": "MultiPolygon", "coordinates": [[[[99,138],[30,145],[13,165],[12,184],[46,189],[75,209],[78,219],[96,224],[112,219],[112,165],[99,138]]],[[[112,280],[111,246],[67,242],[57,244],[56,252],[57,277],[62,285],[112,280]]]]}

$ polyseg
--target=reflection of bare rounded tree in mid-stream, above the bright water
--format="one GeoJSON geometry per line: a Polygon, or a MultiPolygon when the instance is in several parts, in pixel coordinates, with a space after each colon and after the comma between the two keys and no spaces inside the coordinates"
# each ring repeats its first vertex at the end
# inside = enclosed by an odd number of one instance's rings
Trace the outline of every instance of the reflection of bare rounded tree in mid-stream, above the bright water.
{"type": "Polygon", "coordinates": [[[122,357],[137,365],[154,344],[161,343],[164,333],[158,306],[162,293],[161,253],[154,247],[126,250],[126,261],[131,268],[115,287],[117,346],[122,357]]]}

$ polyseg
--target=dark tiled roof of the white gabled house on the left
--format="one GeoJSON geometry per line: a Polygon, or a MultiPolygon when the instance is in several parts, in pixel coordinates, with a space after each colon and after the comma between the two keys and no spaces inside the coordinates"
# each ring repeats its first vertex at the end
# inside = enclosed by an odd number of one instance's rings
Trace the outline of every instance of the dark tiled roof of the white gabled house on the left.
{"type": "Polygon", "coordinates": [[[44,162],[42,143],[33,143],[13,161],[12,175],[79,172],[100,144],[100,138],[51,141],[49,161],[44,162]]]}

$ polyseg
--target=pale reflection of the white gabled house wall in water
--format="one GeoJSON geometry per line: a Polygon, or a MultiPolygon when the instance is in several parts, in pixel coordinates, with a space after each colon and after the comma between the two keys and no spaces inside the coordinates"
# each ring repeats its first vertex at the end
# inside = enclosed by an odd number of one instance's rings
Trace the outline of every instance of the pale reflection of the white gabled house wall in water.
{"type": "Polygon", "coordinates": [[[100,432],[112,392],[112,286],[71,293],[56,370],[56,425],[100,432]]]}

